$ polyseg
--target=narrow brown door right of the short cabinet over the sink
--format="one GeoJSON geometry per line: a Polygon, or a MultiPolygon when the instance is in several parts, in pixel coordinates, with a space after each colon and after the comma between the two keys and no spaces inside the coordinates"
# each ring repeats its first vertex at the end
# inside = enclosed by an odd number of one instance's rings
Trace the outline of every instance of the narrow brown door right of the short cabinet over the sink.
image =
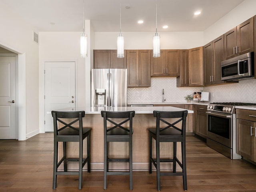
{"type": "Polygon", "coordinates": [[[180,76],[176,82],[177,87],[188,86],[188,50],[180,50],[180,76]]]}

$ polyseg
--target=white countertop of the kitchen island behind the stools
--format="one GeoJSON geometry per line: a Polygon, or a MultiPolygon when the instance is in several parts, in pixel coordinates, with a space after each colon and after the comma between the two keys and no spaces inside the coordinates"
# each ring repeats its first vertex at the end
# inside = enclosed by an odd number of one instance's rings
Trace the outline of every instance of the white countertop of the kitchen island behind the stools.
{"type": "MultiPolygon", "coordinates": [[[[85,111],[86,114],[100,114],[101,111],[135,111],[136,114],[153,114],[153,111],[183,111],[187,109],[170,107],[170,106],[158,106],[158,107],[78,107],[78,108],[64,108],[56,111],[85,111]]],[[[192,110],[187,110],[188,113],[194,113],[192,110]]]]}

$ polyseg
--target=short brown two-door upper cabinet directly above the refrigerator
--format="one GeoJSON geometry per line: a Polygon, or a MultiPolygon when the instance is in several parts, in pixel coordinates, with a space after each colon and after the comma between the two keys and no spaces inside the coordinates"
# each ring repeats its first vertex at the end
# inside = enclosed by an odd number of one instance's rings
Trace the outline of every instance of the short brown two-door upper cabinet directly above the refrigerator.
{"type": "Polygon", "coordinates": [[[117,58],[116,50],[94,50],[94,69],[126,68],[126,51],[124,58],[117,58]]]}

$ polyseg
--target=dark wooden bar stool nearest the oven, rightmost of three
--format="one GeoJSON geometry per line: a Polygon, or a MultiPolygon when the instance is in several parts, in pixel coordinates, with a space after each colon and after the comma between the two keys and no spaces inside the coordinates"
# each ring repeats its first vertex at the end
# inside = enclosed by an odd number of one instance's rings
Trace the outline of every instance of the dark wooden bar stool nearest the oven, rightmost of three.
{"type": "Polygon", "coordinates": [[[156,117],[156,128],[148,128],[149,131],[149,173],[152,173],[152,164],[156,167],[157,190],[161,190],[160,176],[183,176],[183,188],[187,190],[186,175],[186,116],[187,110],[164,112],[153,111],[156,117]],[[170,123],[173,118],[175,122],[170,123]],[[161,122],[161,125],[160,125],[161,122]],[[182,122],[181,129],[176,126],[182,122]],[[152,138],[156,140],[156,159],[152,158],[152,138]],[[173,142],[173,159],[160,158],[160,142],[173,142]],[[182,162],[176,156],[177,142],[181,142],[182,162]],[[173,172],[160,173],[160,162],[173,162],[173,172]],[[176,172],[176,162],[182,168],[182,172],[176,172]]]}

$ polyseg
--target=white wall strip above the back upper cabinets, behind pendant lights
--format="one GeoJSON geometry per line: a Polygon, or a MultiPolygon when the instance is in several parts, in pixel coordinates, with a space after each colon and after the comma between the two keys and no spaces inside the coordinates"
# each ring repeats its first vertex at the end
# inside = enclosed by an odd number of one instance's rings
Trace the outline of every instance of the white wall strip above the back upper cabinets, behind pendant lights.
{"type": "MultiPolygon", "coordinates": [[[[119,32],[95,32],[95,49],[116,49],[119,32]]],[[[122,32],[124,49],[152,49],[154,32],[122,32]]],[[[160,32],[161,49],[202,46],[203,32],[160,32]]]]}

